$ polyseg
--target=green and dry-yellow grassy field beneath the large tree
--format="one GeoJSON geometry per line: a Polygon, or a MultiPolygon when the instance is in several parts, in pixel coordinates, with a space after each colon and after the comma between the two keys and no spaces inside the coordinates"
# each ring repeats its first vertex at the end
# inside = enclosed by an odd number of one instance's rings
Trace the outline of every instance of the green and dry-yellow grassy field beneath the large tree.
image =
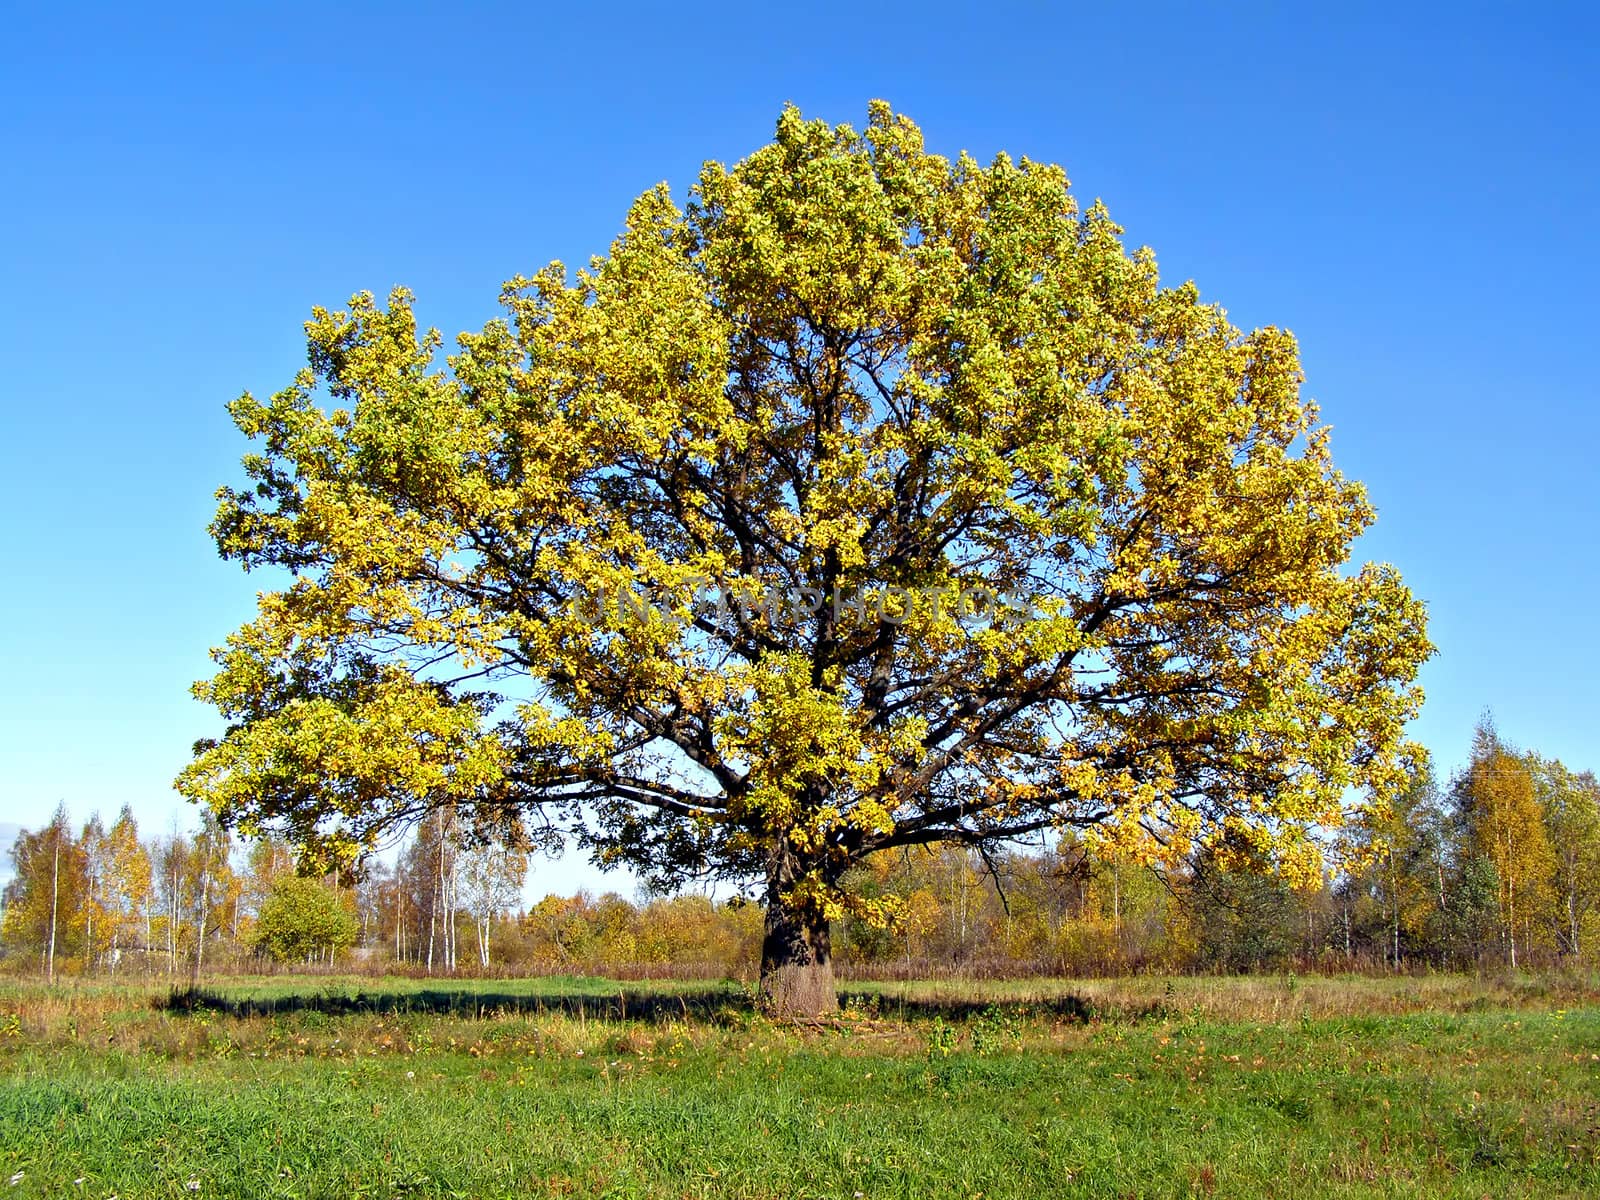
{"type": "Polygon", "coordinates": [[[11,982],[0,1195],[1594,1197],[1600,990],[11,982]]]}

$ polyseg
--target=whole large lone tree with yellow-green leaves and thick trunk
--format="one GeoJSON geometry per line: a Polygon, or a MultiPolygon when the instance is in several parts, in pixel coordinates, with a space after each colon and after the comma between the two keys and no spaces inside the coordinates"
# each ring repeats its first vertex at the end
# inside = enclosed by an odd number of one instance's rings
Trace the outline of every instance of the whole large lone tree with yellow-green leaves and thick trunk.
{"type": "Polygon", "coordinates": [[[1422,606],[1347,570],[1373,512],[1293,338],[1120,235],[1056,166],[790,109],[443,363],[405,291],[314,310],[213,526],[293,584],[214,653],[179,787],[323,858],[451,805],[762,880],[779,1010],[832,1003],[872,851],[1315,870],[1403,778],[1422,606]]]}

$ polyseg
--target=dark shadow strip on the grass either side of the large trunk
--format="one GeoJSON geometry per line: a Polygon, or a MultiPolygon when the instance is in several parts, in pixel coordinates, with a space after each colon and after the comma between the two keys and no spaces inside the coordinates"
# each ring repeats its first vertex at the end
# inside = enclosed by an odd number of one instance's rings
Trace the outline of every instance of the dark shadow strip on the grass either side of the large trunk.
{"type": "MultiPolygon", "coordinates": [[[[995,1016],[1035,1018],[1046,1021],[1118,1019],[1139,1021],[1165,1014],[1162,1005],[1147,1010],[1104,1010],[1077,995],[1053,995],[1034,1000],[979,1000],[960,997],[901,998],[877,992],[840,992],[845,1013],[890,1021],[947,1022],[992,1019],[995,1016]]],[[[744,987],[706,987],[696,990],[648,990],[618,987],[614,994],[542,994],[491,992],[475,987],[438,987],[418,992],[298,992],[272,997],[230,997],[206,989],[173,990],[157,1000],[157,1008],[173,1013],[213,1011],[227,1016],[275,1016],[280,1013],[323,1013],[326,1016],[459,1016],[490,1019],[499,1016],[574,1016],[594,1021],[709,1021],[734,1024],[755,1016],[752,990],[744,987]]]]}

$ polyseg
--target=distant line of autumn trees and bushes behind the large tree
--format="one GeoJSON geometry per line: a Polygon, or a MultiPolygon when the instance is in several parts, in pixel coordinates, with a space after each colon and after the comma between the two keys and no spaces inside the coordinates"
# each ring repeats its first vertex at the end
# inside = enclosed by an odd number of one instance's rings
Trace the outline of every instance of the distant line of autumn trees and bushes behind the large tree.
{"type": "MultiPolygon", "coordinates": [[[[1418,762],[1394,805],[1330,835],[1336,870],[1296,890],[1238,854],[1171,870],[1077,835],[1005,853],[877,854],[848,890],[890,928],[835,922],[842,965],[867,974],[1085,974],[1594,963],[1600,958],[1600,784],[1507,746],[1490,722],[1440,786],[1418,762]]],[[[1246,856],[1248,858],[1248,856],[1246,856]]],[[[66,808],[11,850],[0,949],[13,968],[200,971],[352,963],[422,973],[754,971],[762,914],[741,898],[546,896],[526,907],[528,853],[446,813],[354,885],[302,877],[294,848],[237,843],[210,819],[141,837],[123,808],[66,808]]]]}

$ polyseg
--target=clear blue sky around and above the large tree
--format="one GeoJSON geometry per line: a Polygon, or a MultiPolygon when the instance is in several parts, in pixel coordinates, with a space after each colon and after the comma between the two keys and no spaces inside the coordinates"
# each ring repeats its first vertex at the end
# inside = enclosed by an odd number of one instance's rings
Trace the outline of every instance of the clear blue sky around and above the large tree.
{"type": "Polygon", "coordinates": [[[205,533],[222,405],[290,379],[312,304],[405,283],[477,328],[786,101],[870,98],[1062,163],[1168,282],[1291,328],[1379,509],[1362,557],[1430,605],[1416,736],[1448,773],[1493,707],[1600,768],[1592,6],[222,8],[6,16],[0,821],[192,821],[187,685],[258,587],[205,533]]]}

